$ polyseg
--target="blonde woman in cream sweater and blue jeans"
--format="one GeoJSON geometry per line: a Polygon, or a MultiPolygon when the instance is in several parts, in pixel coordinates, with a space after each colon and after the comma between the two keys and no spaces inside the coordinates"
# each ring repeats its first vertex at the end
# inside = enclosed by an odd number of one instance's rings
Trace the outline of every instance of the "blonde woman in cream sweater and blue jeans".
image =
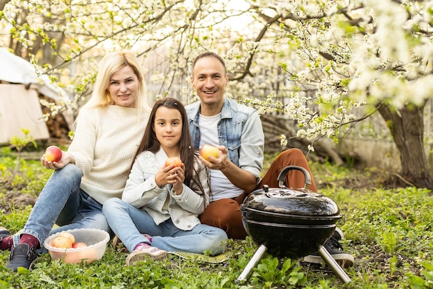
{"type": "Polygon", "coordinates": [[[129,50],[107,54],[68,151],[59,162],[41,158],[54,172],[23,230],[15,236],[6,228],[0,231],[0,250],[11,250],[7,268],[30,269],[50,234],[84,227],[110,232],[102,205],[122,196],[149,111],[136,56],[129,50]],[[51,230],[55,223],[59,227],[51,230]]]}

